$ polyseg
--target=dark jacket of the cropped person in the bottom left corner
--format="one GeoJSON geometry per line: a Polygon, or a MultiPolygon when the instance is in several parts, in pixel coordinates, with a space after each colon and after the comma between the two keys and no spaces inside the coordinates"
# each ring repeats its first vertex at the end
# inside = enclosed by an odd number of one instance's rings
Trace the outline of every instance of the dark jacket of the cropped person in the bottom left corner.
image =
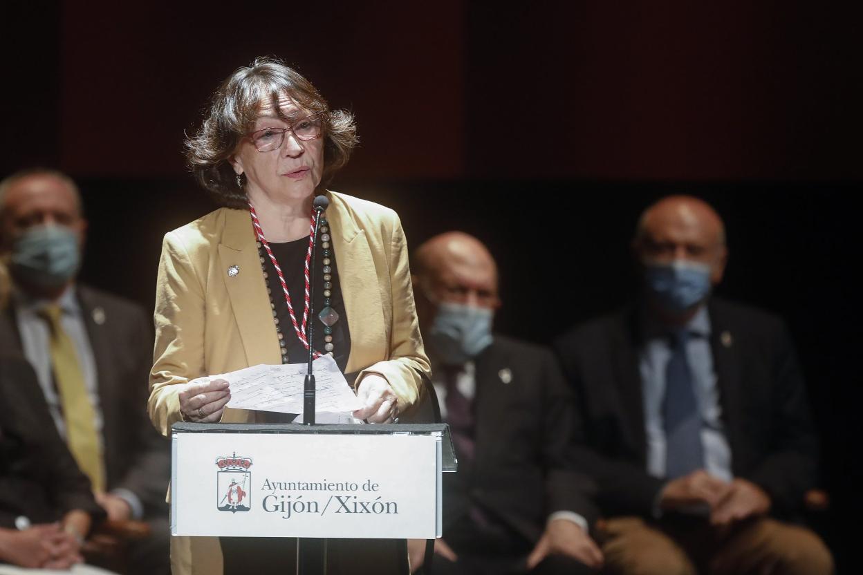
{"type": "Polygon", "coordinates": [[[0,356],[0,527],[17,516],[32,523],[58,521],[82,509],[104,516],[48,413],[26,359],[0,356]]]}

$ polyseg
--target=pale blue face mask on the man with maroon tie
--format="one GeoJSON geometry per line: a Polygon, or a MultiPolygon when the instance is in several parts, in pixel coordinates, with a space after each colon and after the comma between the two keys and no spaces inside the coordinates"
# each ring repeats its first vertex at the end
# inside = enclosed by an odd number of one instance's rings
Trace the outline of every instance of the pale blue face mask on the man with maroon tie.
{"type": "Polygon", "coordinates": [[[444,364],[458,366],[491,345],[494,311],[462,303],[441,303],[429,341],[444,364]]]}

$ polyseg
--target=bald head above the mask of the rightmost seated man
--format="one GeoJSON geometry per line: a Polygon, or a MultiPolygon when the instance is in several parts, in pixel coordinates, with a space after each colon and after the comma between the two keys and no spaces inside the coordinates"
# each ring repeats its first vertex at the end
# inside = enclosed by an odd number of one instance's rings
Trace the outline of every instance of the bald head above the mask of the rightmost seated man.
{"type": "Polygon", "coordinates": [[[635,230],[633,250],[642,263],[706,264],[713,284],[721,281],[728,258],[721,217],[709,203],[691,196],[664,197],[648,207],[635,230]]]}

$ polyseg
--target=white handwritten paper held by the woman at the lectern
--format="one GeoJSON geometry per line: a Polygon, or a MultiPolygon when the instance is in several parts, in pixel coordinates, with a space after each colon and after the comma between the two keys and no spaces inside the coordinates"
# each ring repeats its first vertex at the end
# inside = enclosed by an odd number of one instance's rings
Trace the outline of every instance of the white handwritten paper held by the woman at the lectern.
{"type": "MultiPolygon", "coordinates": [[[[225,379],[230,384],[230,408],[301,414],[307,366],[305,363],[285,366],[261,364],[236,372],[198,378],[198,381],[225,379]]],[[[312,362],[312,372],[315,375],[317,391],[316,413],[345,413],[362,408],[362,403],[350,389],[331,355],[315,359],[312,362]]]]}

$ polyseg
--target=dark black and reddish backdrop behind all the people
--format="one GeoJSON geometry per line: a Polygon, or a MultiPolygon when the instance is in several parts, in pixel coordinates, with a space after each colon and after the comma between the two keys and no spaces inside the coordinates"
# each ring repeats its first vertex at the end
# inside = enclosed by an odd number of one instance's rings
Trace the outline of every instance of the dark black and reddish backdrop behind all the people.
{"type": "Polygon", "coordinates": [[[822,432],[816,516],[859,521],[860,15],[795,3],[28,2],[4,8],[0,176],[81,184],[83,277],[152,308],[161,236],[213,204],[184,130],[237,66],[278,55],[360,147],[333,188],[396,209],[411,245],[459,228],[501,266],[497,328],[548,342],[632,295],[628,242],[671,192],[713,203],[720,293],[783,315],[822,432]]]}

